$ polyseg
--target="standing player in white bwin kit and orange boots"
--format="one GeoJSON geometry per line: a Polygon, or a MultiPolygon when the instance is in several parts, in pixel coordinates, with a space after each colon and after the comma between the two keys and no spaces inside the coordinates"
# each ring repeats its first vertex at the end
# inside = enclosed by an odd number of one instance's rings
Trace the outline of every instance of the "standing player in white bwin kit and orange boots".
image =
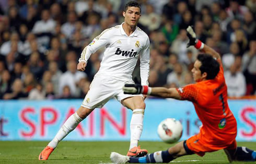
{"type": "Polygon", "coordinates": [[[127,3],[123,16],[124,22],[121,25],[104,30],[83,50],[77,64],[79,71],[85,71],[92,53],[102,46],[106,48],[100,69],[92,80],[82,105],[67,119],[53,140],[42,150],[39,160],[47,160],[57,144],[72,132],[79,122],[83,121],[95,108],[102,108],[113,97],[133,111],[130,123],[130,149],[127,156],[140,157],[147,154],[147,150],[138,146],[143,128],[145,96],[125,95],[122,87],[125,83],[134,83],[132,72],[138,56],[141,58],[141,84],[148,85],[149,38],[137,27],[141,17],[141,7],[138,3],[134,1],[127,3]]]}

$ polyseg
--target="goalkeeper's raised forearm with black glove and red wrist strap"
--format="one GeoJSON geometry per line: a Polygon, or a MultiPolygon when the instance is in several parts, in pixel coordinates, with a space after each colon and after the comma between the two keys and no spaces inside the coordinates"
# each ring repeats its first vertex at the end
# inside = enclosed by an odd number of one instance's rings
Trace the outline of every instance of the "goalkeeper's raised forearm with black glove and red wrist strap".
{"type": "Polygon", "coordinates": [[[210,46],[202,43],[200,40],[196,39],[196,34],[191,26],[187,28],[187,35],[189,37],[189,42],[187,47],[193,45],[196,49],[203,51],[206,54],[212,55],[216,59],[220,59],[219,53],[210,48],[210,46]]]}

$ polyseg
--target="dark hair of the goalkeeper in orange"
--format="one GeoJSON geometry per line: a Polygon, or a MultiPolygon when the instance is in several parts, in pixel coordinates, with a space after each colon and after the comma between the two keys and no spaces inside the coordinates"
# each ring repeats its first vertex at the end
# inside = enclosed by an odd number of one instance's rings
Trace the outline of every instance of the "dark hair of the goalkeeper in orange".
{"type": "Polygon", "coordinates": [[[202,65],[200,66],[201,74],[204,72],[207,73],[206,79],[214,79],[219,73],[219,63],[213,56],[209,54],[199,54],[197,56],[197,60],[199,60],[202,65]]]}

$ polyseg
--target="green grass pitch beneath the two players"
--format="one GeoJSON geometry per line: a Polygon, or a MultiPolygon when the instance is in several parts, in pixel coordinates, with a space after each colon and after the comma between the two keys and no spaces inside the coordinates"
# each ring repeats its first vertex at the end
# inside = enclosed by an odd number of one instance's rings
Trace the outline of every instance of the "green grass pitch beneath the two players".
{"type": "MultiPolygon", "coordinates": [[[[38,156],[48,142],[0,142],[0,163],[111,163],[111,151],[126,155],[129,142],[67,142],[63,141],[53,151],[47,161],[39,161],[38,156]]],[[[140,142],[142,148],[152,153],[166,150],[171,145],[162,142],[140,142]]],[[[256,150],[255,142],[238,143],[256,150]]],[[[207,153],[204,157],[184,156],[171,163],[228,163],[223,150],[207,153]]],[[[243,163],[243,162],[234,162],[243,163]]],[[[255,162],[246,162],[255,163],[255,162]]]]}

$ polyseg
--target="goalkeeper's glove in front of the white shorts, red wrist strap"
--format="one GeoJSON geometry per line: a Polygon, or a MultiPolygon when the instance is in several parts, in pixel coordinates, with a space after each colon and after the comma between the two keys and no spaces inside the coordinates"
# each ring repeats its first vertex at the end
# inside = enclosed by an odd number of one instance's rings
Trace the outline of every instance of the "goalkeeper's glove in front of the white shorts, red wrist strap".
{"type": "Polygon", "coordinates": [[[123,87],[124,94],[132,94],[132,95],[149,95],[151,92],[151,88],[148,86],[142,86],[141,84],[125,84],[123,87]]]}

